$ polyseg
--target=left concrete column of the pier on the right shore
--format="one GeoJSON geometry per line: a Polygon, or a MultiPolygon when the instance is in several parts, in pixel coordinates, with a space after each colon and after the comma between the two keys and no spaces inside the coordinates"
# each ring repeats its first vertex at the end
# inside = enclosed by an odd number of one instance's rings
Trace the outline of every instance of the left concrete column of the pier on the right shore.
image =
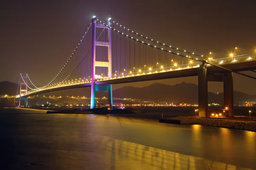
{"type": "Polygon", "coordinates": [[[208,82],[205,60],[198,72],[198,116],[208,117],[208,82]]]}

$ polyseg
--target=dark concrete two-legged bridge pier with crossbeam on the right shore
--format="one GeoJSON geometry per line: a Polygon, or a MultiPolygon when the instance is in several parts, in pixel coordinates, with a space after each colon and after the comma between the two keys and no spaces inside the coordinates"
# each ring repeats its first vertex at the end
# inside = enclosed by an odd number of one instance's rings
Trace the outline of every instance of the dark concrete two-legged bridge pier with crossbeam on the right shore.
{"type": "Polygon", "coordinates": [[[203,60],[198,72],[198,116],[209,117],[208,115],[208,81],[223,82],[224,85],[224,109],[228,113],[223,116],[234,116],[233,97],[233,73],[209,74],[206,68],[206,61],[203,60]]]}

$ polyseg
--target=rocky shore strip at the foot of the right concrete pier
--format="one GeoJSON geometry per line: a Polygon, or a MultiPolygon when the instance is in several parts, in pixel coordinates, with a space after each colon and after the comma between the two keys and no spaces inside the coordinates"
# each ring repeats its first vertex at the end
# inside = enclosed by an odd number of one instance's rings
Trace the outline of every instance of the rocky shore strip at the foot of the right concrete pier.
{"type": "MultiPolygon", "coordinates": [[[[236,118],[236,117],[235,117],[236,118]]],[[[196,119],[195,125],[205,125],[213,127],[223,127],[228,129],[248,130],[256,132],[256,121],[236,120],[236,119],[214,119],[214,118],[199,118],[195,116],[179,116],[176,119],[196,119]]]]}

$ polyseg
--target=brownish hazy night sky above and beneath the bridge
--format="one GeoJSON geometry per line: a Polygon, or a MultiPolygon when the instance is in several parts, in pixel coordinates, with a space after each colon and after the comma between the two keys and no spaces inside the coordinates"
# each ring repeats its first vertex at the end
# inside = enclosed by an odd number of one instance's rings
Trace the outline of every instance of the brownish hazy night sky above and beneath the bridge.
{"type": "MultiPolygon", "coordinates": [[[[18,83],[29,74],[45,85],[63,67],[93,15],[175,47],[212,57],[255,54],[255,0],[8,0],[0,6],[0,82],[18,83]]],[[[252,72],[244,72],[256,77],[252,72]]],[[[154,82],[197,84],[197,77],[113,85],[143,87],[154,82]]],[[[256,94],[256,81],[234,74],[234,90],[256,94]]],[[[223,92],[221,82],[209,91],[223,92]]]]}

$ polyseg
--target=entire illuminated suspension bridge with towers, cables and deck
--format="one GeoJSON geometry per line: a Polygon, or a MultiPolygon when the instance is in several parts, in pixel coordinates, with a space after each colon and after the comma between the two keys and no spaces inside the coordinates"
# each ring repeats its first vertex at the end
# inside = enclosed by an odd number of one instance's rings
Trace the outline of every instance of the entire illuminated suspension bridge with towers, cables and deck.
{"type": "Polygon", "coordinates": [[[255,56],[212,58],[158,42],[111,18],[104,23],[94,16],[54,78],[36,87],[28,75],[20,74],[17,97],[19,106],[27,106],[29,96],[91,87],[90,108],[95,107],[95,91],[108,91],[108,109],[112,110],[113,84],[198,76],[199,116],[208,117],[208,81],[224,82],[224,105],[228,116],[233,116],[233,73],[256,79],[239,72],[254,70],[255,56]]]}

